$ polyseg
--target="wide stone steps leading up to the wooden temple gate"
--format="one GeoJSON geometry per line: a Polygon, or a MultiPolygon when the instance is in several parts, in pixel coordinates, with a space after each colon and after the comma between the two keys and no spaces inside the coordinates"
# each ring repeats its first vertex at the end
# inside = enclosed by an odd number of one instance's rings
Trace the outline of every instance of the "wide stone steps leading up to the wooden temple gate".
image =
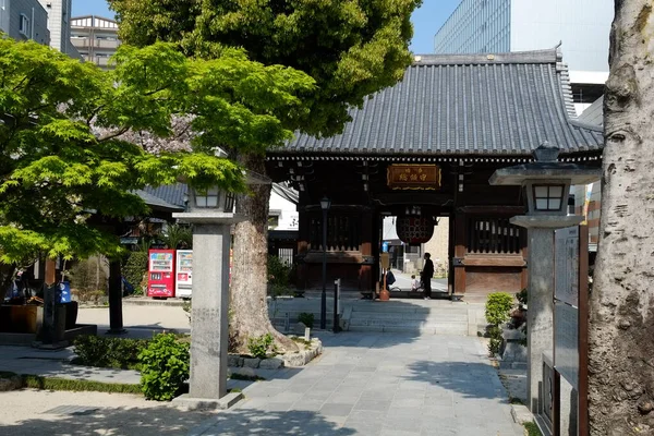
{"type": "MultiPolygon", "coordinates": [[[[334,300],[327,299],[327,329],[331,329],[334,300]]],[[[320,322],[320,299],[278,299],[269,303],[272,324],[280,331],[292,331],[301,313],[320,322]]],[[[342,330],[370,332],[410,332],[415,335],[476,335],[484,325],[483,306],[445,300],[341,301],[342,330]]]]}

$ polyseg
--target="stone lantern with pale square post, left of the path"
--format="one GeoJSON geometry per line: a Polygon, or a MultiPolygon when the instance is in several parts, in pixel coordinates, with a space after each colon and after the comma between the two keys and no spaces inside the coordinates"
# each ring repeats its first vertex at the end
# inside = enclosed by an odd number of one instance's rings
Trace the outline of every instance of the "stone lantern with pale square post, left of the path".
{"type": "MultiPolygon", "coordinates": [[[[249,172],[246,184],[268,184],[249,172]]],[[[193,306],[191,311],[191,378],[189,395],[178,401],[190,408],[225,409],[240,398],[227,395],[229,254],[235,194],[217,186],[190,187],[185,213],[173,218],[193,225],[193,306]]]]}

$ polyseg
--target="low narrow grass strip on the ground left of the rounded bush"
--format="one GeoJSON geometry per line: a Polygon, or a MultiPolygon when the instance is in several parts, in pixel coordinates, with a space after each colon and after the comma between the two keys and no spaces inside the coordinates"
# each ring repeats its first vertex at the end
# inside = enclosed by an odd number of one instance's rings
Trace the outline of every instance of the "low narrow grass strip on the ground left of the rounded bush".
{"type": "Polygon", "coordinates": [[[110,393],[137,393],[142,395],[138,385],[130,385],[122,383],[101,383],[93,380],[72,380],[58,377],[43,377],[32,374],[14,374],[9,372],[0,372],[0,378],[11,378],[19,376],[21,378],[22,388],[41,389],[41,390],[72,390],[94,391],[94,392],[110,392],[110,393]]]}

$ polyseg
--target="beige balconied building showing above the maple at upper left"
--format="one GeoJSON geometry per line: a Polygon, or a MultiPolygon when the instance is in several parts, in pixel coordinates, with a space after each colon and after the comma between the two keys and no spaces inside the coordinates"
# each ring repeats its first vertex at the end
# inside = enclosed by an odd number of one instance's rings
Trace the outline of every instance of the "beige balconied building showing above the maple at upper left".
{"type": "Polygon", "coordinates": [[[71,20],[70,40],[84,60],[106,69],[120,46],[118,23],[96,15],[75,16],[71,20]]]}

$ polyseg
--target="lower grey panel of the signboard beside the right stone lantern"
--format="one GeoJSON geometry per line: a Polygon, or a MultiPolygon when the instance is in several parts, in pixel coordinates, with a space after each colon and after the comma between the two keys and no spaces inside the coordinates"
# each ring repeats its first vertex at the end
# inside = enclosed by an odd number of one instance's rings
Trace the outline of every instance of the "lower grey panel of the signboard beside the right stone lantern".
{"type": "Polygon", "coordinates": [[[579,388],[579,311],[561,301],[554,302],[554,362],[556,371],[579,388]]]}

